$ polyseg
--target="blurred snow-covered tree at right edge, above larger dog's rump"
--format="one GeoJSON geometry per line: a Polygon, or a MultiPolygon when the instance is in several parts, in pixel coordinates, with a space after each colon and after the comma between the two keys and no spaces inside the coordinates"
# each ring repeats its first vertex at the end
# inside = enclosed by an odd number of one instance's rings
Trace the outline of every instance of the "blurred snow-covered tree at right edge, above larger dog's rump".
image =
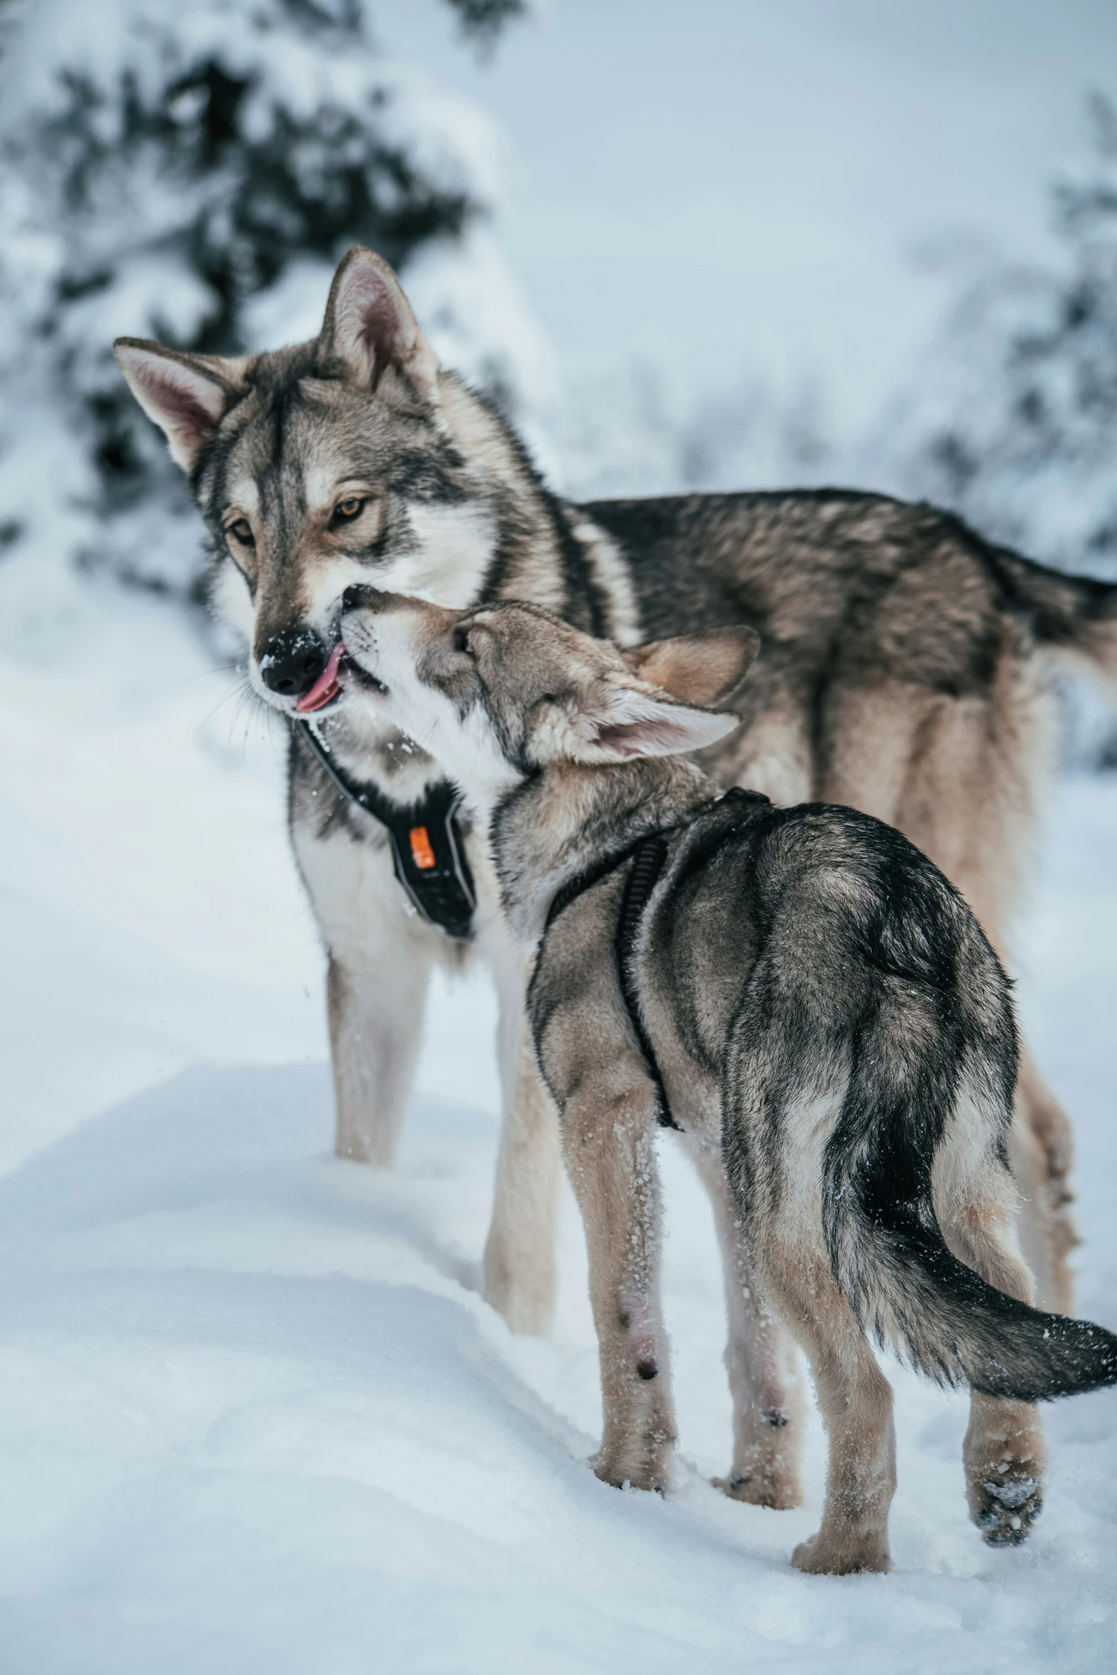
{"type": "Polygon", "coordinates": [[[1050,563],[1117,573],[1117,111],[1057,183],[1062,260],[986,265],[888,415],[872,476],[1050,563]]]}

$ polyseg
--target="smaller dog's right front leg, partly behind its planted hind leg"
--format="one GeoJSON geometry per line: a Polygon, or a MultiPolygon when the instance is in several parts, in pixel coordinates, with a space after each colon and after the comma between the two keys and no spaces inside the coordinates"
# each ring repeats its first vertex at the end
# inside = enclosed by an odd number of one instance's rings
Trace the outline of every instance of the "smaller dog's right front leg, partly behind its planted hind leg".
{"type": "Polygon", "coordinates": [[[713,1482],[734,1501],[799,1506],[804,1410],[795,1345],[760,1296],[720,1152],[690,1131],[685,1144],[713,1204],[725,1271],[725,1372],[734,1397],[734,1464],[725,1477],[713,1482]]]}

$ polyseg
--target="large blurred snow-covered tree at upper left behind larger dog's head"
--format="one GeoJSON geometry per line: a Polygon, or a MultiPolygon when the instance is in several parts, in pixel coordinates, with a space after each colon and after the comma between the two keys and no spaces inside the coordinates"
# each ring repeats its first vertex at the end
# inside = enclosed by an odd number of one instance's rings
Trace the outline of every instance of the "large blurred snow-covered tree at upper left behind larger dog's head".
{"type": "MultiPolygon", "coordinates": [[[[522,10],[522,0],[447,3],[481,47],[522,10]]],[[[122,387],[112,338],[239,353],[308,337],[352,243],[375,246],[409,283],[415,273],[432,335],[452,338],[467,374],[514,382],[526,358],[516,333],[529,335],[516,298],[479,327],[457,307],[479,268],[509,291],[482,226],[499,147],[472,107],[383,55],[370,10],[370,0],[0,3],[8,554],[50,548],[189,596],[196,521],[122,387]]]]}

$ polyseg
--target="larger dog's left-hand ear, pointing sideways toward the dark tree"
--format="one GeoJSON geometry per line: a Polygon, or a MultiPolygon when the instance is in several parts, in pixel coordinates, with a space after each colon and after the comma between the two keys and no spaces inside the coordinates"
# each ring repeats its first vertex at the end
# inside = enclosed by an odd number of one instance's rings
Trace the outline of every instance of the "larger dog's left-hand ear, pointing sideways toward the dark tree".
{"type": "Polygon", "coordinates": [[[181,355],[139,337],[119,337],[112,353],[129,390],[166,436],[171,457],[191,472],[245,387],[245,362],[181,355]]]}

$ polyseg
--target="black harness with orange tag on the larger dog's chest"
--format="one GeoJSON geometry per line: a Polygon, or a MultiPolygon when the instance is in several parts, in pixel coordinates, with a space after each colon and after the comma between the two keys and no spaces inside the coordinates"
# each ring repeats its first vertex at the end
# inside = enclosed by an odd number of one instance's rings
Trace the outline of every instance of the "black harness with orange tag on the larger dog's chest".
{"type": "Polygon", "coordinates": [[[477,891],[457,819],[461,791],[449,779],[435,779],[419,802],[394,802],[377,786],[352,781],[313,727],[296,725],[337,789],[385,827],[395,876],[415,913],[454,941],[472,941],[477,891]]]}

